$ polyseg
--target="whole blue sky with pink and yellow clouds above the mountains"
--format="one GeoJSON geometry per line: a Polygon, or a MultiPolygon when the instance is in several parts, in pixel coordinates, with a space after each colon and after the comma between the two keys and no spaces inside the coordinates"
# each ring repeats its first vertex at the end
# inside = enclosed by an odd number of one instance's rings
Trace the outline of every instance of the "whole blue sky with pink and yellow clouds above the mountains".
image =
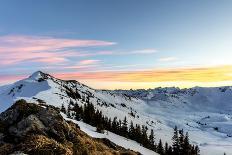
{"type": "Polygon", "coordinates": [[[38,70],[97,89],[232,85],[232,1],[0,3],[0,85],[38,70]]]}

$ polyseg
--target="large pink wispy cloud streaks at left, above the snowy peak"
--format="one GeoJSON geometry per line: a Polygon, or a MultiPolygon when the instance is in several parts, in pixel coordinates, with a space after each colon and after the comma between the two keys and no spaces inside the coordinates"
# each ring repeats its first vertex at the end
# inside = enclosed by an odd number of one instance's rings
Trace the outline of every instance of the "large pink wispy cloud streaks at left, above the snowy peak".
{"type": "Polygon", "coordinates": [[[0,64],[10,65],[23,61],[60,63],[65,62],[67,57],[82,55],[79,52],[69,51],[69,48],[110,46],[114,44],[116,43],[100,40],[78,40],[44,36],[0,36],[0,64]]]}

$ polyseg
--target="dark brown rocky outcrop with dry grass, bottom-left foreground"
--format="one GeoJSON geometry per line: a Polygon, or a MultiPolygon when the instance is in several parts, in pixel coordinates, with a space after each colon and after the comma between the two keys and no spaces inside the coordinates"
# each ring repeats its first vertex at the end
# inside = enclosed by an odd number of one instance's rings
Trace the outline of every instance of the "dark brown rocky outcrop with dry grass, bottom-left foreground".
{"type": "Polygon", "coordinates": [[[0,154],[138,154],[107,139],[94,139],[67,122],[57,108],[17,101],[0,114],[0,154]]]}

